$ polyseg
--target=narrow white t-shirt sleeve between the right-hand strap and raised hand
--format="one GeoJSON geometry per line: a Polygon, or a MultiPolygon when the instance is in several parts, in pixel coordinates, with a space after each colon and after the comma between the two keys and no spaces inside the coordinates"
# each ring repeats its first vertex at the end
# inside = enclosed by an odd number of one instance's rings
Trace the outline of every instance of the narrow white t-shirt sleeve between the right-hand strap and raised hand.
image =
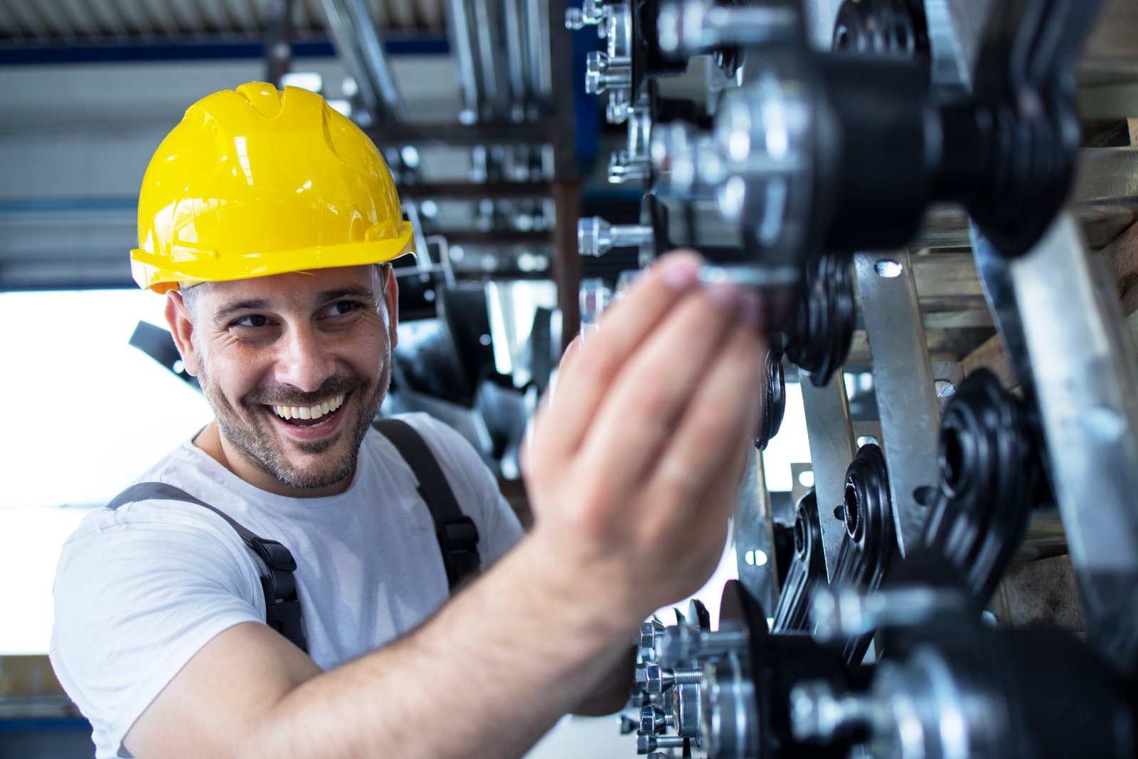
{"type": "Polygon", "coordinates": [[[478,525],[483,567],[504,556],[525,536],[521,522],[498,490],[494,477],[473,446],[454,429],[427,414],[407,419],[431,444],[462,509],[478,525]]]}

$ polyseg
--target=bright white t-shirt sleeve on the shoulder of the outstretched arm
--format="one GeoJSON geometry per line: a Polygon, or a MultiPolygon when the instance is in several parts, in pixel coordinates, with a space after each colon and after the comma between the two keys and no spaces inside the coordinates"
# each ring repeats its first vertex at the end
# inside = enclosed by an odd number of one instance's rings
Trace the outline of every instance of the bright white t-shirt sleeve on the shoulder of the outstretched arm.
{"type": "Polygon", "coordinates": [[[212,530],[204,520],[213,514],[188,517],[171,505],[160,515],[145,504],[92,513],[64,544],[56,572],[52,665],[96,742],[116,753],[206,643],[239,622],[264,621],[240,539],[212,530]]]}

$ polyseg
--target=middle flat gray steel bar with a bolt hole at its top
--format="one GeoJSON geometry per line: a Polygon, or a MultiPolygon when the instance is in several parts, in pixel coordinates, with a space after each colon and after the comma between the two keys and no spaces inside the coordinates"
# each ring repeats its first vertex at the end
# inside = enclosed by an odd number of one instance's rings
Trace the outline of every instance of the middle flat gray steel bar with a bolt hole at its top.
{"type": "Polygon", "coordinates": [[[873,346],[873,381],[902,555],[918,545],[927,506],[920,488],[939,481],[940,409],[907,250],[853,256],[861,313],[873,346]]]}

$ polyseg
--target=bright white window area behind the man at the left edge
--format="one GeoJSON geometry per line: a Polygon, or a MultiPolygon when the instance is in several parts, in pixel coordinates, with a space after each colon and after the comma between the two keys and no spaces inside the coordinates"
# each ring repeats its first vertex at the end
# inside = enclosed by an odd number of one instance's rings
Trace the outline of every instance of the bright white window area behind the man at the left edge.
{"type": "Polygon", "coordinates": [[[212,414],[127,345],[165,300],[141,290],[0,295],[0,654],[46,653],[59,547],[212,414]]]}

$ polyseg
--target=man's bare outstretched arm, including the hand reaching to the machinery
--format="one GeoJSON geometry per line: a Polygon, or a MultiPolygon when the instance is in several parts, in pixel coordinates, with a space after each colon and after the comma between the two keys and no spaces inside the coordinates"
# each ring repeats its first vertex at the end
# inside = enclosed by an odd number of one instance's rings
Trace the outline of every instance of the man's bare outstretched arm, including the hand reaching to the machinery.
{"type": "Polygon", "coordinates": [[[575,344],[526,456],[534,531],[414,633],[332,671],[261,625],[203,647],[138,757],[519,756],[715,569],[759,412],[751,296],[671,256],[575,344]]]}

